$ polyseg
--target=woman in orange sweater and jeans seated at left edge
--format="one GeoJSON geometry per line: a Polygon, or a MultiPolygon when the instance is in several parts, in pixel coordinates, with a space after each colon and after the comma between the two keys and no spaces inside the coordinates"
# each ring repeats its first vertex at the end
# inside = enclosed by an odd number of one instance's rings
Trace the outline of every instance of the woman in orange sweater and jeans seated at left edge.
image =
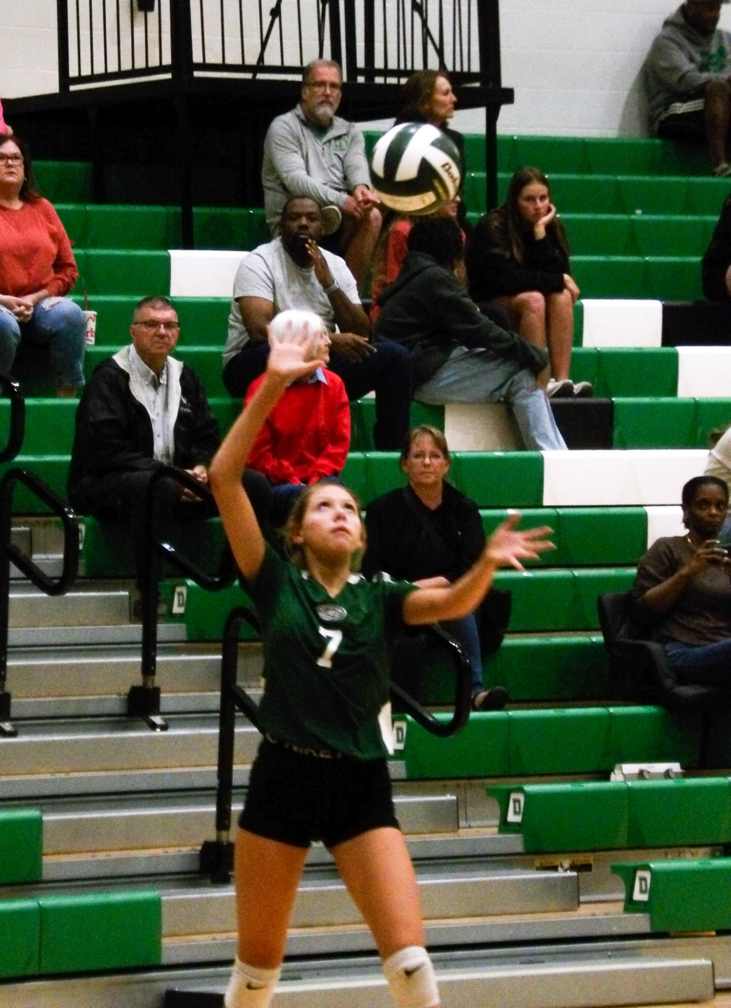
{"type": "Polygon", "coordinates": [[[21,339],[48,344],[56,393],[76,394],[86,320],[64,295],[78,277],[64,225],[33,187],[27,148],[0,136],[0,372],[10,373],[21,339]]]}

